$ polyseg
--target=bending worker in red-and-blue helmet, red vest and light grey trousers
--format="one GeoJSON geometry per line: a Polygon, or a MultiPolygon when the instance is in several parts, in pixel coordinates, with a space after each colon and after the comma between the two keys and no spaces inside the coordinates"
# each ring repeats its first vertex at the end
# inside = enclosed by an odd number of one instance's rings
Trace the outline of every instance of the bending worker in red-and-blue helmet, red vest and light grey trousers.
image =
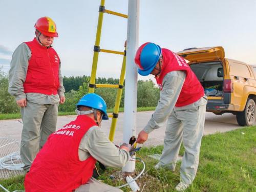
{"type": "Polygon", "coordinates": [[[181,142],[185,148],[176,190],[185,190],[195,179],[204,130],[207,97],[186,61],[168,49],[146,42],[136,52],[138,73],[155,75],[161,89],[154,114],[139,133],[137,142],[144,143],[148,134],[167,119],[164,148],[155,168],[175,170],[181,142]]]}

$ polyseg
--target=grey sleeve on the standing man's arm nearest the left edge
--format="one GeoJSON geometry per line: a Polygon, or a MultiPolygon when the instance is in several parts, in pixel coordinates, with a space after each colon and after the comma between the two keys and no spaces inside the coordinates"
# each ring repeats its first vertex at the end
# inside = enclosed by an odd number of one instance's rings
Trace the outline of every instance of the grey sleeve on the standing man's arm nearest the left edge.
{"type": "Polygon", "coordinates": [[[16,101],[26,100],[23,84],[26,80],[30,57],[31,51],[26,44],[19,45],[12,55],[8,92],[16,97],[16,101]]]}

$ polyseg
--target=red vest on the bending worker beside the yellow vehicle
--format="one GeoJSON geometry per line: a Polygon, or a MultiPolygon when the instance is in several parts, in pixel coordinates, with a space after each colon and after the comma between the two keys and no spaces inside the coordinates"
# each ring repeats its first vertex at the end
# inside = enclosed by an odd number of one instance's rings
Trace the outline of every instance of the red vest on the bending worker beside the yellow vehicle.
{"type": "Polygon", "coordinates": [[[156,77],[157,84],[162,90],[162,82],[164,76],[171,71],[185,71],[186,79],[182,86],[179,98],[175,106],[185,106],[196,102],[202,96],[204,96],[204,89],[201,83],[197,79],[195,73],[187,65],[186,61],[179,55],[173,53],[168,49],[162,49],[163,54],[163,66],[162,71],[158,77],[156,77]]]}

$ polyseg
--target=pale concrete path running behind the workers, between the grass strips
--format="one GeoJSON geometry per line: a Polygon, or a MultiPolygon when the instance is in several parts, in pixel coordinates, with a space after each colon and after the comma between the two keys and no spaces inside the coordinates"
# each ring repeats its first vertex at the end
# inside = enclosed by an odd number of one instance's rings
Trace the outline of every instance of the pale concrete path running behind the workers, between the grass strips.
{"type": "MultiPolygon", "coordinates": [[[[146,125],[147,121],[150,119],[153,112],[138,112],[137,115],[137,133],[139,133],[143,127],[146,125]]],[[[60,129],[63,125],[74,120],[76,116],[59,116],[57,121],[57,129],[60,129]]],[[[102,130],[109,135],[111,125],[110,120],[102,121],[102,130]]],[[[13,120],[1,120],[0,121],[0,158],[8,155],[9,153],[19,151],[19,146],[16,143],[1,147],[7,143],[10,143],[11,140],[3,139],[3,137],[20,140],[20,135],[22,132],[22,121],[20,119],[13,120]]],[[[122,127],[123,127],[123,113],[119,114],[116,133],[114,142],[119,144],[122,142],[122,127]]],[[[213,113],[206,113],[205,117],[205,128],[204,135],[214,134],[216,132],[227,132],[231,130],[238,129],[240,126],[237,124],[236,116],[232,114],[223,114],[221,116],[215,115],[213,113]]],[[[163,144],[164,138],[164,127],[160,127],[159,130],[154,131],[149,135],[148,140],[144,143],[143,146],[154,146],[163,144]]],[[[137,137],[137,135],[136,135],[137,137]]],[[[16,176],[22,174],[23,172],[10,171],[7,169],[0,170],[0,179],[7,178],[10,176],[16,176]]]]}

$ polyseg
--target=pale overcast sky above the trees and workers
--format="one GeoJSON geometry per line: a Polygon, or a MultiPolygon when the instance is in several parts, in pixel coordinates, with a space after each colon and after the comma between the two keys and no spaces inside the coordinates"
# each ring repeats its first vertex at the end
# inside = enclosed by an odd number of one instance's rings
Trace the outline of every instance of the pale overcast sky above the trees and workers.
{"type": "MultiPolygon", "coordinates": [[[[10,69],[16,47],[34,37],[37,18],[51,17],[59,34],[54,49],[62,75],[90,75],[100,0],[1,0],[0,66],[10,69]]],[[[127,14],[127,0],[105,8],[127,14]]],[[[123,51],[127,19],[104,14],[100,47],[123,51]]],[[[151,41],[180,51],[222,46],[227,58],[256,65],[256,0],[140,0],[139,44],[151,41]]],[[[122,56],[100,53],[97,77],[118,78],[122,56]]],[[[142,77],[139,75],[139,79],[142,77]]]]}

